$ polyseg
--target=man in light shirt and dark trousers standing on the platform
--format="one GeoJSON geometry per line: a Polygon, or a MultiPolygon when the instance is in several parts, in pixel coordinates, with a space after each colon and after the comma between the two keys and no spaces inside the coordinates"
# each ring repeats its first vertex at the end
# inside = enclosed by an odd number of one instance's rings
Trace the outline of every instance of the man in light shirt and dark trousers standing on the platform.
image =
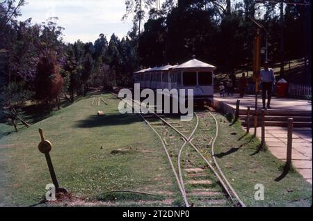
{"type": "Polygon", "coordinates": [[[262,101],[263,108],[271,108],[271,97],[272,97],[272,88],[275,84],[274,71],[271,68],[268,68],[268,62],[264,63],[264,68],[261,70],[261,82],[262,82],[262,101]],[[266,92],[267,92],[267,106],[265,108],[266,101],[266,92]]]}

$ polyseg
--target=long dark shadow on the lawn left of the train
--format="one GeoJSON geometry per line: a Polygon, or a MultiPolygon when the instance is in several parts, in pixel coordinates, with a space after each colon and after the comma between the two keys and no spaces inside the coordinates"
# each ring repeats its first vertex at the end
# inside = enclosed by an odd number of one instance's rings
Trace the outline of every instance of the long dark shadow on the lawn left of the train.
{"type": "Polygon", "coordinates": [[[76,126],[80,128],[93,128],[99,126],[112,126],[133,124],[142,122],[140,117],[134,114],[92,115],[84,120],[77,121],[76,126]]]}

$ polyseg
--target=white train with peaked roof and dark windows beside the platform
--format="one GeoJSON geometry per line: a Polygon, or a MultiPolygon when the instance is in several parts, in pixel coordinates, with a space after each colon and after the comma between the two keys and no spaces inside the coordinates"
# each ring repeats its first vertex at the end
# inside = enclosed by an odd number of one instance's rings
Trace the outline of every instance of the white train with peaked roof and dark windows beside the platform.
{"type": "MultiPolygon", "coordinates": [[[[141,84],[141,89],[193,89],[195,101],[213,101],[214,70],[216,67],[193,58],[181,65],[166,65],[143,69],[134,73],[134,82],[141,84]]],[[[169,95],[171,96],[171,95],[169,95]]]]}

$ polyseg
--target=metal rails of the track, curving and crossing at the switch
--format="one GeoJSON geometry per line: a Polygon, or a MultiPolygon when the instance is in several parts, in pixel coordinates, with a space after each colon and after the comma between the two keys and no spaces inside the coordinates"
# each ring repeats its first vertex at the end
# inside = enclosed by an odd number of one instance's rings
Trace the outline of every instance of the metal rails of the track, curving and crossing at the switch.
{"type": "MultiPolygon", "coordinates": [[[[111,92],[111,93],[115,97],[118,97],[118,95],[116,95],[114,92],[111,92]]],[[[124,99],[124,101],[125,101],[125,99],[124,99]]],[[[142,104],[139,104],[137,101],[134,101],[133,99],[126,101],[127,105],[129,105],[131,107],[134,107],[132,104],[133,102],[135,105],[136,104],[141,105],[141,108],[146,108],[145,113],[138,113],[138,114],[145,121],[145,123],[148,126],[150,126],[152,131],[154,131],[154,133],[156,133],[157,136],[159,137],[159,139],[161,140],[161,144],[163,146],[164,151],[166,152],[166,156],[167,156],[168,161],[170,163],[170,167],[171,167],[172,172],[175,176],[175,180],[177,181],[177,186],[179,188],[179,192],[182,195],[182,199],[184,200],[184,204],[186,207],[197,206],[197,205],[214,206],[214,205],[217,205],[214,203],[222,202],[221,200],[220,201],[216,200],[216,197],[214,197],[216,195],[220,195],[220,193],[211,192],[210,190],[208,190],[206,188],[198,188],[197,185],[196,185],[196,188],[191,188],[191,190],[189,192],[187,192],[186,182],[184,182],[183,170],[182,170],[182,153],[184,152],[184,149],[186,149],[187,146],[189,146],[189,147],[191,147],[191,149],[193,149],[193,151],[196,153],[194,155],[197,155],[195,157],[202,159],[202,162],[204,162],[204,164],[207,166],[207,168],[209,170],[211,170],[213,175],[216,177],[218,183],[220,183],[220,187],[223,190],[222,195],[224,195],[226,197],[228,204],[230,206],[241,206],[241,207],[246,206],[241,201],[239,196],[236,194],[234,188],[232,188],[232,185],[230,184],[230,182],[227,180],[227,178],[223,174],[223,172],[220,169],[220,166],[218,165],[218,162],[216,161],[216,158],[214,156],[214,144],[216,142],[216,138],[218,137],[218,122],[217,122],[214,114],[211,113],[211,111],[209,111],[209,114],[214,119],[214,122],[216,124],[216,133],[215,133],[215,136],[213,138],[211,138],[211,142],[210,142],[211,143],[211,158],[213,160],[213,163],[210,163],[209,159],[206,158],[204,156],[204,154],[202,154],[199,147],[196,147],[193,144],[193,140],[195,139],[194,135],[198,129],[198,125],[200,122],[197,113],[194,113],[195,119],[196,119],[195,126],[193,127],[191,133],[188,136],[186,136],[186,135],[184,135],[184,133],[182,131],[179,131],[177,129],[177,126],[173,125],[173,124],[177,124],[177,122],[170,122],[169,120],[166,120],[166,116],[159,115],[159,114],[155,113],[154,110],[152,110],[152,108],[150,108],[150,107],[146,107],[146,106],[143,107],[142,104]],[[162,125],[162,126],[156,126],[156,125],[162,125]],[[165,140],[165,137],[163,136],[169,130],[175,131],[175,133],[183,141],[182,145],[180,145],[180,147],[178,149],[177,157],[175,155],[175,151],[177,152],[177,149],[175,149],[175,148],[170,149],[170,145],[168,145],[168,143],[165,140]],[[195,192],[195,191],[198,191],[199,194],[197,194],[197,192],[195,192]],[[191,193],[195,194],[195,196],[198,196],[198,197],[192,196],[191,193]],[[209,194],[206,194],[206,193],[209,193],[209,194]],[[201,197],[201,195],[204,195],[204,197],[201,197]],[[195,199],[195,198],[197,198],[197,199],[195,199]]],[[[191,170],[193,172],[195,172],[196,170],[201,171],[200,174],[191,173],[190,175],[194,175],[194,176],[198,176],[198,175],[206,176],[207,175],[207,170],[204,170],[201,168],[189,168],[189,170],[191,170]]],[[[210,174],[210,175],[212,175],[212,174],[210,174]]],[[[199,184],[199,183],[200,184],[201,183],[207,184],[208,181],[207,180],[195,180],[192,183],[193,184],[199,184]]],[[[188,183],[187,183],[187,185],[188,185],[188,183]]],[[[190,188],[188,188],[188,189],[190,189],[190,188]]]]}

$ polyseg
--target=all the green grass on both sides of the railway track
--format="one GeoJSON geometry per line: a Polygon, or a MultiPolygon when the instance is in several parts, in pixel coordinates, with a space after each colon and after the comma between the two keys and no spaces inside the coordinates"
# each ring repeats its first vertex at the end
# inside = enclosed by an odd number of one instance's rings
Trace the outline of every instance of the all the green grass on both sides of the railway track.
{"type": "MultiPolygon", "coordinates": [[[[119,100],[110,94],[101,95],[108,105],[91,106],[93,97],[99,96],[88,95],[29,129],[0,138],[0,205],[30,206],[44,199],[45,186],[51,183],[51,179],[45,156],[38,151],[39,128],[52,142],[50,154],[60,186],[67,188],[77,199],[68,205],[182,205],[159,138],[138,115],[121,115],[119,100]],[[104,111],[106,115],[97,116],[97,111],[104,111]],[[107,193],[114,190],[154,195],[107,193]]],[[[200,126],[193,144],[211,160],[209,140],[215,134],[215,122],[207,111],[199,112],[200,126]]],[[[223,115],[216,114],[216,117],[220,127],[216,158],[247,206],[311,206],[310,183],[297,172],[290,172],[284,179],[275,181],[282,174],[282,161],[270,152],[257,152],[259,140],[244,136],[245,131],[239,123],[230,126],[223,115]],[[257,183],[264,185],[264,201],[254,199],[257,183]]],[[[184,124],[193,128],[194,121],[184,124]]],[[[175,136],[168,140],[169,152],[176,156],[182,140],[174,131],[169,132],[175,136]]],[[[204,166],[193,153],[186,146],[182,165],[204,166]]],[[[177,162],[174,163],[176,166],[177,162]]],[[[214,181],[214,177],[210,179],[214,181]]],[[[216,190],[219,189],[217,185],[216,190]]]]}

